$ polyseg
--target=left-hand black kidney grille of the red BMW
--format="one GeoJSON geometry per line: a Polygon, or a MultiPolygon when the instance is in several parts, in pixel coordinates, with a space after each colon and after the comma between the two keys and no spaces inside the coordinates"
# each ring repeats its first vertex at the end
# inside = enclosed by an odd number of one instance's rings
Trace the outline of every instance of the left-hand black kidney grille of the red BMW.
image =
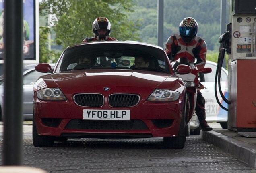
{"type": "Polygon", "coordinates": [[[104,97],[101,94],[78,94],[74,101],[79,106],[101,107],[104,104],[104,97]]]}

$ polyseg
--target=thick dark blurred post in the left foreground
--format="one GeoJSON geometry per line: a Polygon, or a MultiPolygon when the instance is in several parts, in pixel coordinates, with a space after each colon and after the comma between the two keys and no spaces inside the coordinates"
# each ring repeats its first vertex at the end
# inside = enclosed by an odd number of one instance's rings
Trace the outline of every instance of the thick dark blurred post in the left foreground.
{"type": "Polygon", "coordinates": [[[4,145],[3,165],[22,159],[23,0],[4,0],[4,145]]]}

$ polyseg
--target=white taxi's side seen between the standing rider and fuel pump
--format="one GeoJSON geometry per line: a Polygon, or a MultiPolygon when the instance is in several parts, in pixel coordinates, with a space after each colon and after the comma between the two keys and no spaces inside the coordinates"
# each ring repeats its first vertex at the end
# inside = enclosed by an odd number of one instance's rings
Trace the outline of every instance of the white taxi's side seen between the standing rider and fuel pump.
{"type": "MultiPolygon", "coordinates": [[[[227,111],[223,110],[217,103],[215,99],[215,73],[217,69],[217,64],[215,63],[207,63],[205,67],[212,68],[212,72],[204,75],[204,80],[202,80],[202,84],[206,87],[206,89],[200,90],[205,99],[205,110],[206,110],[206,121],[214,122],[214,121],[227,121],[227,111]]],[[[227,73],[222,69],[221,71],[221,90],[227,98],[227,73]]],[[[217,86],[217,95],[219,101],[223,103],[223,99],[219,93],[219,89],[217,86]]]]}

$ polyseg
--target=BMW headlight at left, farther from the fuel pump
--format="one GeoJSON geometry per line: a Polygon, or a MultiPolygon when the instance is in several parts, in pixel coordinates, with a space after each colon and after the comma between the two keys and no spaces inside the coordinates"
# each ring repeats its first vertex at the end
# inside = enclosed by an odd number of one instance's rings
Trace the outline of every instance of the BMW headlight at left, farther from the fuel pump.
{"type": "Polygon", "coordinates": [[[45,101],[64,101],[67,98],[59,88],[45,88],[37,92],[37,98],[45,101]]]}

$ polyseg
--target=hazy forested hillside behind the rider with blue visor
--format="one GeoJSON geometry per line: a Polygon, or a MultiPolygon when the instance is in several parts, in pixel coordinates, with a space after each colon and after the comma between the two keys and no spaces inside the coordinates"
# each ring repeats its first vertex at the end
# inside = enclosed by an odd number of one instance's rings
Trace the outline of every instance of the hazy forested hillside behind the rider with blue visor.
{"type": "MultiPolygon", "coordinates": [[[[134,0],[134,4],[137,5],[134,12],[128,15],[132,20],[140,19],[140,38],[144,42],[155,40],[152,38],[157,39],[157,0],[134,0]]],[[[178,33],[180,22],[188,16],[197,20],[198,36],[206,41],[207,48],[218,51],[220,0],[165,0],[164,41],[172,34],[178,33]]]]}

